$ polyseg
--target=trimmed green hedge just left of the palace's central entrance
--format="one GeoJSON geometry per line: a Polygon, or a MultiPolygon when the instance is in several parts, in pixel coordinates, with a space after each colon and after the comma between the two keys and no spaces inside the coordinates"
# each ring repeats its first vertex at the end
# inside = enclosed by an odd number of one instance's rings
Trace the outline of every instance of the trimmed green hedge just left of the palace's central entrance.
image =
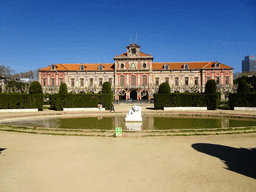
{"type": "Polygon", "coordinates": [[[63,108],[90,108],[98,107],[101,103],[105,109],[111,108],[113,94],[52,94],[50,105],[52,109],[62,110],[63,108]]]}

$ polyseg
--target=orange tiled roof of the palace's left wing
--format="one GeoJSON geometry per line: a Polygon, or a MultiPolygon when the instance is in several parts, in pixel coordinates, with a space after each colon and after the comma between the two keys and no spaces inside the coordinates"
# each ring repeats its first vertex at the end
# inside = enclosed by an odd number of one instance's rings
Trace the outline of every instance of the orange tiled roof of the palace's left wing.
{"type": "MultiPolygon", "coordinates": [[[[80,66],[83,65],[85,67],[85,71],[98,71],[99,66],[103,66],[104,71],[114,71],[114,63],[97,63],[97,64],[91,64],[91,63],[79,63],[79,64],[55,64],[56,71],[79,71],[80,66]]],[[[50,71],[51,66],[45,67],[40,69],[40,71],[50,71]]]]}

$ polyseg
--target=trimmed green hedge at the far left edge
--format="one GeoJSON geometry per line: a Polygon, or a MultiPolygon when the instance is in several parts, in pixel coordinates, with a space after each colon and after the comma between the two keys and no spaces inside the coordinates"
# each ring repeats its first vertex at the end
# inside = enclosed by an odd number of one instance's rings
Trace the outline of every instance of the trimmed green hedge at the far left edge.
{"type": "Polygon", "coordinates": [[[43,107],[42,94],[3,93],[0,95],[0,109],[31,109],[43,107]]]}

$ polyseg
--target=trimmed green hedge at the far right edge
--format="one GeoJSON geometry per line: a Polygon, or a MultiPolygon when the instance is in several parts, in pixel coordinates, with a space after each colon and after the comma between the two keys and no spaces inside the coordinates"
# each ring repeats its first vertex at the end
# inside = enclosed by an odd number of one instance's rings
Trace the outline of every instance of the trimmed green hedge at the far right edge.
{"type": "Polygon", "coordinates": [[[256,107],[256,93],[230,93],[229,107],[256,107]]]}

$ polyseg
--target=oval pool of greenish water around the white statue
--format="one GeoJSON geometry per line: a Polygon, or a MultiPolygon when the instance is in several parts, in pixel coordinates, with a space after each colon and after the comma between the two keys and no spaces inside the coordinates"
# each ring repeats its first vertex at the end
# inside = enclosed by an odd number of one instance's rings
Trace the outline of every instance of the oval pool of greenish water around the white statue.
{"type": "Polygon", "coordinates": [[[191,116],[142,116],[142,122],[125,122],[124,116],[119,117],[79,117],[56,118],[26,121],[11,121],[3,124],[38,126],[46,128],[67,129],[100,129],[113,130],[122,127],[123,130],[169,130],[169,129],[202,129],[256,126],[256,119],[245,118],[211,118],[191,116]]]}

